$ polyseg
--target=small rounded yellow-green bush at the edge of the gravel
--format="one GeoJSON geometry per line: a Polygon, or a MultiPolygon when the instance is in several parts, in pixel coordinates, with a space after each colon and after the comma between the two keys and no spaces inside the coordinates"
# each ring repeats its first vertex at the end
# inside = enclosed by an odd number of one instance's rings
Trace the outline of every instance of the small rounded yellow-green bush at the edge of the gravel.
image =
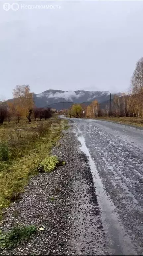
{"type": "Polygon", "coordinates": [[[56,156],[46,157],[39,166],[39,171],[41,172],[51,172],[56,168],[56,165],[59,163],[56,156]]]}

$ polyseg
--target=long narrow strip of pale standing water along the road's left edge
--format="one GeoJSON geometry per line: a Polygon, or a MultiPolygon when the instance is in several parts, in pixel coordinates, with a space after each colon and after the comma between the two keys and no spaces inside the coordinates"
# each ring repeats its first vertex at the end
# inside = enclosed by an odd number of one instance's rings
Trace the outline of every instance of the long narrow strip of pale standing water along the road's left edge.
{"type": "Polygon", "coordinates": [[[86,147],[85,139],[80,131],[77,136],[81,143],[80,150],[89,158],[90,169],[106,235],[107,253],[110,255],[136,255],[132,242],[123,225],[120,223],[118,214],[115,212],[115,206],[106,194],[102,179],[100,178],[96,165],[86,147]]]}

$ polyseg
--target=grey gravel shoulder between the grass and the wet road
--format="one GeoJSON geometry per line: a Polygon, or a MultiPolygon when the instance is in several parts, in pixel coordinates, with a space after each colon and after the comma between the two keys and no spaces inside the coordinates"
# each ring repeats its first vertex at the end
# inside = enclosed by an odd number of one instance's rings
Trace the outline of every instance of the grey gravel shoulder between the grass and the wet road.
{"type": "Polygon", "coordinates": [[[52,150],[66,164],[38,174],[21,198],[4,210],[0,229],[15,224],[44,230],[0,255],[105,255],[105,233],[88,158],[74,133],[65,132],[52,150]],[[56,192],[58,188],[59,192],[56,192]],[[52,200],[54,198],[54,200],[52,200]]]}

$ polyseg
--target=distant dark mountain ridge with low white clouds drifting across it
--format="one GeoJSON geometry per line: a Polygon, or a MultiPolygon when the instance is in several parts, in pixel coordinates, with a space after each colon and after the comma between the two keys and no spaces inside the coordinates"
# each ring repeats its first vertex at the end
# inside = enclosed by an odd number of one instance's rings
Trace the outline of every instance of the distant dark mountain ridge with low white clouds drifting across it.
{"type": "MultiPolygon", "coordinates": [[[[117,93],[121,95],[121,93],[117,93]]],[[[112,94],[113,98],[114,94],[112,94]]],[[[97,99],[102,103],[110,99],[108,91],[62,91],[62,90],[47,90],[40,94],[34,94],[34,101],[37,107],[51,107],[57,110],[69,108],[72,103],[90,102],[97,99]]],[[[87,103],[88,105],[88,103],[87,103]]]]}

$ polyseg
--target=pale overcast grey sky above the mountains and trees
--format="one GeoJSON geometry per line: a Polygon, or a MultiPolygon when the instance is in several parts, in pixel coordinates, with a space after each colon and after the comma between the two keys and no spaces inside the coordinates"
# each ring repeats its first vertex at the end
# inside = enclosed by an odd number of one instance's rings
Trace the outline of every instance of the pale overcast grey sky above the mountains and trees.
{"type": "Polygon", "coordinates": [[[35,93],[124,91],[141,57],[143,1],[0,1],[1,99],[17,84],[35,93]],[[4,10],[6,2],[19,9],[4,10]]]}

